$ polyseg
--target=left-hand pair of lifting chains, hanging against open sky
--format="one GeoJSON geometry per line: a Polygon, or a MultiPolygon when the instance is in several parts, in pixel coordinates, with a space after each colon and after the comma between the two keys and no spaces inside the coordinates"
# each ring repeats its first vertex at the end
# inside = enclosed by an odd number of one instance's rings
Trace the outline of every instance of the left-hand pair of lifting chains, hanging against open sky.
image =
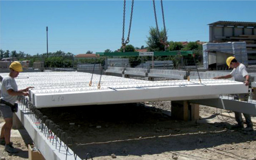
{"type": "Polygon", "coordinates": [[[130,42],[130,32],[131,32],[131,26],[132,26],[132,12],[133,12],[133,3],[134,0],[132,0],[132,9],[131,9],[131,18],[130,18],[130,25],[129,25],[129,31],[128,31],[128,36],[127,39],[124,42],[124,24],[125,24],[125,0],[124,0],[124,13],[123,13],[123,36],[122,36],[122,48],[123,51],[125,51],[125,46],[130,42]]]}

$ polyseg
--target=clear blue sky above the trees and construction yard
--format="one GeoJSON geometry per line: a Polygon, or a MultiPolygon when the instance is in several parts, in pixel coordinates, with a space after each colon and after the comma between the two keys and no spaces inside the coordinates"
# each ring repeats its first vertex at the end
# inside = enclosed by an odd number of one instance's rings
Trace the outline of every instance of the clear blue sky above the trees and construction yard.
{"type": "MultiPolygon", "coordinates": [[[[0,48],[26,54],[115,51],[121,46],[123,1],[0,1],[0,48]]],[[[125,39],[132,1],[126,1],[125,39]]],[[[168,41],[209,41],[207,24],[256,22],[256,1],[163,1],[168,41]]],[[[160,1],[156,1],[163,28],[160,1]]],[[[149,27],[155,27],[153,2],[134,1],[130,43],[147,46],[149,27]]]]}

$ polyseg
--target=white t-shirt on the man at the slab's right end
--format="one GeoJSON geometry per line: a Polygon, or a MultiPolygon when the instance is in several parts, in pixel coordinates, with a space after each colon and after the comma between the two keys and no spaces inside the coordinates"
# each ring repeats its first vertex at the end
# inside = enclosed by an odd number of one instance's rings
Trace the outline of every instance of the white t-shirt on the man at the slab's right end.
{"type": "Polygon", "coordinates": [[[248,72],[246,71],[246,67],[242,63],[240,63],[239,66],[232,70],[230,75],[234,77],[235,81],[244,82],[244,76],[248,75],[248,72]]]}

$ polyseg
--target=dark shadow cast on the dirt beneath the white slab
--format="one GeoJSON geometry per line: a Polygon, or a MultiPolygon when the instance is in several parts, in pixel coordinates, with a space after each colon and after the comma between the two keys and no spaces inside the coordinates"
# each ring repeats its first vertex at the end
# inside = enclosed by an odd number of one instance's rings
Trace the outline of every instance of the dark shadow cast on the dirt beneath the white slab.
{"type": "Polygon", "coordinates": [[[80,157],[142,156],[211,148],[252,140],[253,134],[228,130],[226,122],[176,121],[154,107],[138,104],[47,108],[40,111],[75,140],[80,157]],[[58,116],[56,116],[58,115],[58,116]],[[75,123],[75,124],[74,124],[75,123]]]}

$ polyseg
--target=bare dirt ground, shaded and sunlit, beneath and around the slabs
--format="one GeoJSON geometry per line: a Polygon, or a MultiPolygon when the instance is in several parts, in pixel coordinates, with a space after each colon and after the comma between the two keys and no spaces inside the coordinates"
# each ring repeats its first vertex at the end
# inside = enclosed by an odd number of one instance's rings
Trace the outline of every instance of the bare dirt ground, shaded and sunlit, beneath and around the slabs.
{"type": "MultiPolygon", "coordinates": [[[[41,109],[74,138],[82,159],[256,159],[256,131],[229,129],[235,121],[220,111],[200,106],[200,120],[183,122],[169,116],[170,101],[41,109]]],[[[28,159],[27,132],[12,130],[11,140],[20,152],[10,155],[1,145],[1,157],[28,159]]]]}

